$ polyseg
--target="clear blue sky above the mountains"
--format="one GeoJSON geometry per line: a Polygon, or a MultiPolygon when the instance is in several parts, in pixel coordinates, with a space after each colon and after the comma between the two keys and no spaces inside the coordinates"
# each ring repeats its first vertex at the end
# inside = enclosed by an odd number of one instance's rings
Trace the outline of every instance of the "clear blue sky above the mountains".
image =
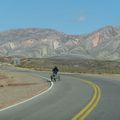
{"type": "Polygon", "coordinates": [[[120,0],[0,0],[0,31],[50,28],[85,34],[120,25],[120,0]]]}

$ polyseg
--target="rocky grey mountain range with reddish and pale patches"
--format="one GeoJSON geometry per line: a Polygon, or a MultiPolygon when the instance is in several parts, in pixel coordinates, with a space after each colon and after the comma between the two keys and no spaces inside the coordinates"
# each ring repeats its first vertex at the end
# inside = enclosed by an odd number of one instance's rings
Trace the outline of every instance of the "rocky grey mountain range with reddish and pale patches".
{"type": "Polygon", "coordinates": [[[120,26],[106,26],[86,35],[36,28],[0,32],[0,56],[116,60],[120,59],[120,26]]]}

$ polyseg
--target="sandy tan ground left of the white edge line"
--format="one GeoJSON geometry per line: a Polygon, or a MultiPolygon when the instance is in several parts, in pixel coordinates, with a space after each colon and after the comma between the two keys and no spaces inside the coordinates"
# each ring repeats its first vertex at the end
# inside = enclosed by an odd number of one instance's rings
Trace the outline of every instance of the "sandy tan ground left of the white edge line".
{"type": "Polygon", "coordinates": [[[0,109],[31,98],[50,84],[30,74],[0,70],[0,109]]]}

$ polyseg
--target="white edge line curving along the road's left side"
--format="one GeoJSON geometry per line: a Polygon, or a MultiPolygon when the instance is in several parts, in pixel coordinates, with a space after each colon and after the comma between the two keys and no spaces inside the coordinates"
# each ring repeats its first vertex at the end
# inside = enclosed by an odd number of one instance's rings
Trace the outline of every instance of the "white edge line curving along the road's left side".
{"type": "MultiPolygon", "coordinates": [[[[47,79],[48,81],[51,82],[51,80],[50,80],[49,78],[47,78],[47,77],[43,77],[43,76],[40,76],[40,77],[43,78],[43,79],[47,79]]],[[[52,89],[53,85],[54,85],[53,82],[51,82],[51,86],[50,86],[47,90],[45,90],[45,91],[41,92],[40,94],[38,94],[38,95],[36,95],[36,96],[33,96],[33,97],[31,97],[31,98],[29,98],[29,99],[27,99],[27,100],[24,100],[24,101],[22,101],[22,102],[18,102],[18,103],[14,104],[14,105],[11,105],[11,106],[9,106],[9,107],[0,109],[0,112],[1,112],[1,111],[4,111],[4,110],[7,110],[7,109],[10,109],[10,108],[12,108],[12,107],[15,107],[15,106],[17,106],[17,105],[23,104],[23,103],[28,102],[28,101],[36,98],[36,97],[39,97],[39,96],[43,95],[44,93],[50,91],[50,90],[52,89]]]]}

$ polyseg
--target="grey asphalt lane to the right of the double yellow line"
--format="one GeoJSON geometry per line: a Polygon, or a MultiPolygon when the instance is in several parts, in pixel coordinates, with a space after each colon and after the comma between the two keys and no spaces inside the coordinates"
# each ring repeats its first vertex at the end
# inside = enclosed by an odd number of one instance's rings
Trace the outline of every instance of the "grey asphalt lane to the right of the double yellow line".
{"type": "Polygon", "coordinates": [[[86,120],[120,120],[120,78],[77,75],[101,87],[101,100],[86,120]]]}

